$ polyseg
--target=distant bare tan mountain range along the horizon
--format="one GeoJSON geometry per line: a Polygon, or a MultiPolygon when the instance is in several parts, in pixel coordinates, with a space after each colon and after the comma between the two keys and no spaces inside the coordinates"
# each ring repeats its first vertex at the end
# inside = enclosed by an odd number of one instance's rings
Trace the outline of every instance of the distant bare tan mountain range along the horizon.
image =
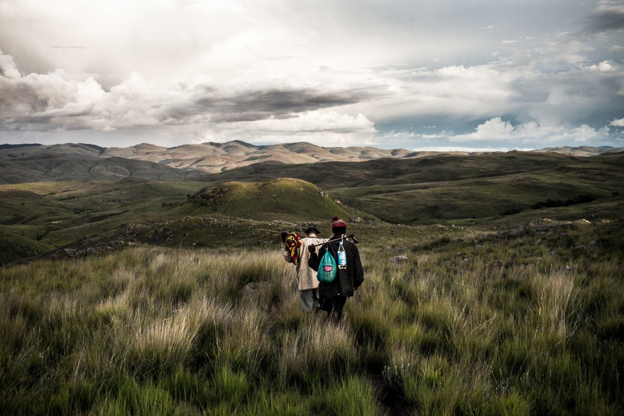
{"type": "MultiPolygon", "coordinates": [[[[596,156],[620,152],[615,147],[556,147],[536,152],[573,156],[596,156]]],[[[413,152],[376,147],[320,147],[308,142],[255,146],[242,141],[207,142],[177,147],[138,144],[129,147],[99,147],[92,144],[0,145],[0,184],[45,181],[115,181],[140,177],[160,181],[193,179],[205,174],[263,164],[308,164],[315,162],[361,162],[374,159],[413,159],[442,152],[413,152]]],[[[456,155],[491,152],[444,152],[456,155]]]]}

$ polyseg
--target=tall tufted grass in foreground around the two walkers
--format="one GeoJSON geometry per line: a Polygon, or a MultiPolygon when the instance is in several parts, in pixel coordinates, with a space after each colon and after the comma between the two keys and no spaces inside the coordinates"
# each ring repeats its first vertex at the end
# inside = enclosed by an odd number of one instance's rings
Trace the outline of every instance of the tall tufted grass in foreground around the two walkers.
{"type": "Polygon", "coordinates": [[[301,312],[278,250],[134,247],[0,269],[0,407],[619,414],[621,227],[574,227],[564,245],[442,237],[399,265],[361,244],[366,280],[339,325],[301,312]]]}

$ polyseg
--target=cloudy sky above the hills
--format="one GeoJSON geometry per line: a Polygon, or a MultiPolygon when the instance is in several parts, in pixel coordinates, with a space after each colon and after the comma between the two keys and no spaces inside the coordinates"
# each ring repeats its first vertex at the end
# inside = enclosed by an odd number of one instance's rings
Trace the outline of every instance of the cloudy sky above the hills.
{"type": "Polygon", "coordinates": [[[624,0],[0,0],[0,144],[624,147],[624,0]]]}

